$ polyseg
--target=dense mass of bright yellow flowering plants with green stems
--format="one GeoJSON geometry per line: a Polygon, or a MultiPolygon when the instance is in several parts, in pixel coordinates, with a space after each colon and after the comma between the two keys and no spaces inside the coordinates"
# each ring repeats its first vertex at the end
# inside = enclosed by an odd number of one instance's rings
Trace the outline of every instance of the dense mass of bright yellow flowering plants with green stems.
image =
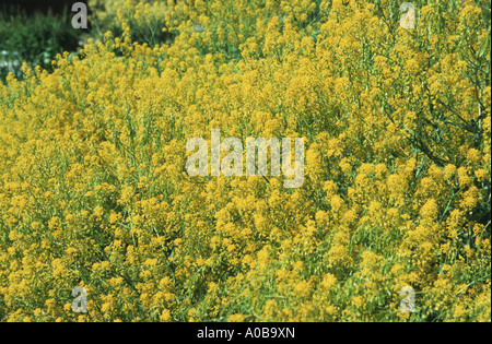
{"type": "Polygon", "coordinates": [[[0,321],[491,321],[489,1],[110,3],[0,84],[0,321]],[[303,185],[189,176],[213,129],[303,185]]]}

